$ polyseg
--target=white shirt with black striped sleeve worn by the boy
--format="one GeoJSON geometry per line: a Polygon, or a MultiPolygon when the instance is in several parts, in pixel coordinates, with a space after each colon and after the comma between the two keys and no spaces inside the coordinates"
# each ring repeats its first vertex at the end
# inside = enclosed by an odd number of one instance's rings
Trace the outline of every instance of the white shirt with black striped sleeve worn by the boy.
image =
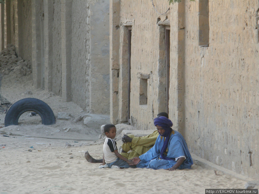
{"type": "Polygon", "coordinates": [[[114,150],[117,150],[116,141],[112,140],[111,138],[106,137],[104,144],[103,144],[103,153],[104,153],[104,160],[106,164],[115,162],[117,156],[114,153],[114,150]]]}

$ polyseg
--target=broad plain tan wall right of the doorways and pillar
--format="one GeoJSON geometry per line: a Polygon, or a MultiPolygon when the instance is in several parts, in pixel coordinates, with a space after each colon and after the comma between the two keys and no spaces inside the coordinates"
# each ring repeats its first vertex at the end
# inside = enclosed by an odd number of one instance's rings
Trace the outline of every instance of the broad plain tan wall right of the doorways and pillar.
{"type": "Polygon", "coordinates": [[[258,8],[258,0],[209,1],[209,47],[198,47],[197,3],[186,1],[185,6],[185,134],[190,151],[256,178],[258,8]]]}

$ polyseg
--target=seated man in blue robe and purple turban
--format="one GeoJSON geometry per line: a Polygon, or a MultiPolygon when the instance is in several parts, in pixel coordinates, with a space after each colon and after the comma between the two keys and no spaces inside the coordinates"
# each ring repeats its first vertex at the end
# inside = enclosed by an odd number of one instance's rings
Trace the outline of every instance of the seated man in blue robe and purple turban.
{"type": "Polygon", "coordinates": [[[172,130],[173,123],[166,117],[154,119],[159,136],[155,145],[133,162],[137,168],[176,170],[191,168],[193,160],[182,135],[172,130]]]}

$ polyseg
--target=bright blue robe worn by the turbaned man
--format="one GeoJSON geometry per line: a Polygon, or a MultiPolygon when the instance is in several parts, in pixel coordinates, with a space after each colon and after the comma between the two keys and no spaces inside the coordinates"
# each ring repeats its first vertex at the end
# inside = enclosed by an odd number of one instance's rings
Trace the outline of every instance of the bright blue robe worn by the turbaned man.
{"type": "MultiPolygon", "coordinates": [[[[164,137],[158,136],[155,145],[148,150],[146,153],[140,155],[140,162],[137,164],[137,168],[152,168],[157,169],[167,169],[173,167],[177,161],[175,160],[162,160],[159,159],[160,151],[164,144],[164,137]]],[[[167,147],[167,157],[174,159],[180,156],[185,156],[186,159],[178,167],[178,169],[191,168],[193,160],[191,154],[188,150],[187,144],[182,137],[182,135],[174,131],[170,136],[170,140],[167,147]]]]}

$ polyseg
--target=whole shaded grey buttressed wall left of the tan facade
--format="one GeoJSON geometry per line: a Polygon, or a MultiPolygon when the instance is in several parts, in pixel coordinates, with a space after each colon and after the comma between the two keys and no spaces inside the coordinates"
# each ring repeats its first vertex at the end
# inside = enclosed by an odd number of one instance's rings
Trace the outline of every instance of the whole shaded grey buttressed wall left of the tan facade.
{"type": "Polygon", "coordinates": [[[8,0],[0,15],[1,49],[15,45],[36,88],[110,113],[109,1],[8,0]]]}

